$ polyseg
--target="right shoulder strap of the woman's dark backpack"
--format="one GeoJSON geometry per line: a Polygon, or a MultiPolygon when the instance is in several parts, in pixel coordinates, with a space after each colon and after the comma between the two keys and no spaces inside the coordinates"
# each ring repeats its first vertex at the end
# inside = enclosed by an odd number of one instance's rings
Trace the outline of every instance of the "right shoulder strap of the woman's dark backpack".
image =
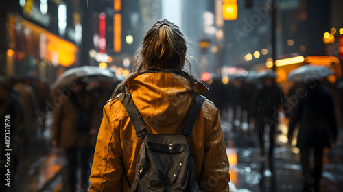
{"type": "Polygon", "coordinates": [[[199,115],[202,103],[205,100],[205,97],[202,95],[196,95],[196,102],[193,106],[189,107],[185,123],[183,124],[181,133],[184,134],[186,137],[191,136],[193,125],[196,123],[196,118],[199,115]]]}

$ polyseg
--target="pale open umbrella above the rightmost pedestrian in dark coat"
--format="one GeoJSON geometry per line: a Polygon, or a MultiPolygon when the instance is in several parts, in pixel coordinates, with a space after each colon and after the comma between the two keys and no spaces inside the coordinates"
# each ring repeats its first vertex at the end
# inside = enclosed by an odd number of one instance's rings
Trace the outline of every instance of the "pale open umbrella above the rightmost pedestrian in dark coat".
{"type": "Polygon", "coordinates": [[[329,67],[307,64],[291,71],[287,76],[287,80],[290,82],[308,82],[311,80],[320,80],[333,74],[333,71],[329,67]]]}

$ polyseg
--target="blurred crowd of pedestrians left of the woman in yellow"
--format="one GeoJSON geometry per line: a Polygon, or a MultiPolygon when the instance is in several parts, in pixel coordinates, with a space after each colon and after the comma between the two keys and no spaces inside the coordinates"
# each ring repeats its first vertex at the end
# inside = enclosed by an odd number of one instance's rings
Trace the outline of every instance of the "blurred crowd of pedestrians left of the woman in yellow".
{"type": "MultiPolygon", "coordinates": [[[[25,149],[32,146],[32,139],[43,139],[43,132],[51,132],[51,147],[62,147],[69,162],[69,184],[75,191],[78,160],[82,162],[82,183],[88,183],[89,163],[93,158],[96,134],[102,118],[102,107],[110,98],[115,82],[99,82],[93,85],[76,82],[74,90],[58,92],[51,90],[45,78],[36,77],[4,77],[0,76],[0,118],[10,116],[11,132],[11,176],[19,178],[21,163],[28,156],[25,149]],[[68,92],[68,93],[67,93],[68,92]],[[73,96],[73,97],[71,97],[73,96]],[[68,106],[69,102],[69,106],[68,106]],[[79,104],[76,104],[80,102],[79,104]],[[82,106],[78,108],[78,106],[82,106]],[[65,107],[65,108],[63,108],[65,107]],[[77,131],[76,124],[82,121],[79,113],[87,114],[91,120],[91,128],[77,131]],[[51,116],[51,114],[54,114],[51,116]],[[50,119],[47,119],[50,118],[50,119]],[[52,125],[49,126],[49,120],[52,125]],[[75,129],[74,129],[75,128],[75,129]],[[82,152],[79,152],[82,149],[82,152]],[[80,159],[78,159],[80,156],[80,159]]],[[[65,89],[67,90],[67,89],[65,89]]],[[[1,124],[1,139],[5,139],[5,123],[1,124]]],[[[49,145],[47,143],[47,145],[49,145]]],[[[1,175],[5,174],[5,142],[0,144],[1,175]]],[[[20,179],[20,178],[19,178],[20,179]]],[[[1,180],[1,190],[5,190],[5,182],[1,180]]],[[[84,186],[86,187],[86,186],[84,186]]]]}

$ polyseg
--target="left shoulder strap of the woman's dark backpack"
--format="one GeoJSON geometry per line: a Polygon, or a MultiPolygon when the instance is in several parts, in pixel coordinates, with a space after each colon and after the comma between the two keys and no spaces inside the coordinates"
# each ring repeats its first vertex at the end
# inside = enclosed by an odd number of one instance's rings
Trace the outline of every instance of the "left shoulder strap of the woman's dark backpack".
{"type": "Polygon", "coordinates": [[[121,101],[123,106],[126,108],[126,112],[128,112],[128,115],[131,119],[131,123],[134,129],[136,130],[137,136],[144,138],[144,136],[148,133],[143,123],[141,114],[139,113],[137,106],[134,104],[130,91],[128,91],[128,88],[126,88],[126,85],[124,85],[123,88],[124,88],[124,94],[120,94],[117,97],[119,97],[119,101],[121,101]]]}

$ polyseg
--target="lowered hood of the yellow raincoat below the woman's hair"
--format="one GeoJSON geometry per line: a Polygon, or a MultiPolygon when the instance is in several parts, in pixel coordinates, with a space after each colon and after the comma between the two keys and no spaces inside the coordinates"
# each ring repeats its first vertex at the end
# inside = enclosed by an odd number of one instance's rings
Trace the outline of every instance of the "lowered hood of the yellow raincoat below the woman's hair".
{"type": "Polygon", "coordinates": [[[209,91],[195,78],[191,80],[168,72],[143,73],[130,80],[128,88],[147,125],[167,128],[185,119],[193,92],[209,91]]]}

